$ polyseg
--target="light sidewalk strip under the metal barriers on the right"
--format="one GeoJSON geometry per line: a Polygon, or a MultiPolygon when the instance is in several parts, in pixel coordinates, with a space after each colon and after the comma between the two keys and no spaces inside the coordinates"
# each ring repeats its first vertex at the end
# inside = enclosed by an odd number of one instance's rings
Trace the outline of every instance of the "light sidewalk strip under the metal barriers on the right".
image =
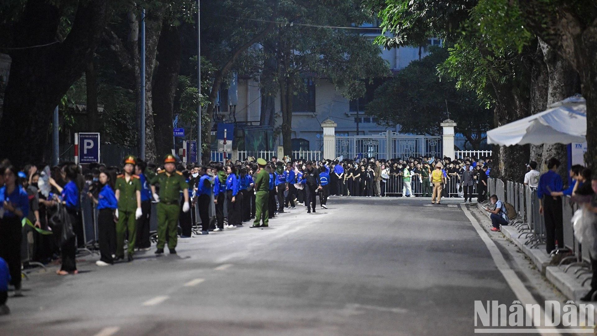
{"type": "MultiPolygon", "coordinates": [[[[472,204],[469,204],[469,206],[474,207],[472,204]]],[[[489,213],[482,209],[481,204],[477,203],[476,206],[481,213],[484,213],[485,216],[487,216],[487,220],[481,221],[481,226],[485,231],[488,231],[488,233],[493,233],[490,231],[492,225],[489,219],[489,213]]],[[[521,231],[516,230],[513,226],[502,226],[501,233],[503,233],[510,242],[518,246],[531,262],[533,262],[537,270],[545,276],[553,286],[558,288],[565,297],[578,303],[580,298],[589,292],[590,277],[592,276],[592,273],[587,273],[586,268],[576,265],[550,265],[550,257],[545,251],[545,245],[541,244],[535,248],[531,248],[530,244],[527,243],[530,235],[524,232],[521,233],[521,231]]]]}

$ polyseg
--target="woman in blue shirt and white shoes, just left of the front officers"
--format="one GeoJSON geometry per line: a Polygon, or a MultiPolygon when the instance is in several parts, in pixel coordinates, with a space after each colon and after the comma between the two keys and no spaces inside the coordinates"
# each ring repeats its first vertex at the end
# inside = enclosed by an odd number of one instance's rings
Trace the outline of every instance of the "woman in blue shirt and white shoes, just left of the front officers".
{"type": "Polygon", "coordinates": [[[114,264],[112,255],[116,252],[116,223],[114,222],[114,211],[118,209],[118,201],[114,194],[113,185],[116,181],[116,174],[109,172],[100,173],[100,184],[102,185],[97,199],[89,193],[89,197],[97,204],[97,234],[100,245],[100,259],[96,261],[98,266],[109,266],[114,264]]]}

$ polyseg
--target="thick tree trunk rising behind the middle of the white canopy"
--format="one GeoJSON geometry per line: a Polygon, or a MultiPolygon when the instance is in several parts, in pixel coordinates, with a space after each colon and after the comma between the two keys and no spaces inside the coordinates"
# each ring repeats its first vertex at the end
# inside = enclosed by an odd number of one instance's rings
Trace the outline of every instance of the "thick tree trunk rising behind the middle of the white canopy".
{"type": "MultiPolygon", "coordinates": [[[[570,63],[559,56],[553,48],[539,39],[539,44],[543,50],[543,59],[549,71],[549,85],[547,90],[547,106],[562,99],[572,96],[576,91],[577,74],[570,66],[570,63]]],[[[546,160],[552,157],[557,158],[562,164],[559,166],[558,173],[563,181],[568,181],[568,161],[567,145],[555,143],[553,145],[543,145],[543,154],[541,155],[541,172],[547,172],[546,160]]]]}

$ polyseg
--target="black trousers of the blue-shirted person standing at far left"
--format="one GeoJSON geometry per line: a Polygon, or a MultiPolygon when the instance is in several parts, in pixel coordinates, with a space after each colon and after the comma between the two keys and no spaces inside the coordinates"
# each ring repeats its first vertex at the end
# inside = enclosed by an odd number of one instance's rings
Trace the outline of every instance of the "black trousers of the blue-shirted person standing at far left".
{"type": "Polygon", "coordinates": [[[22,225],[18,217],[0,219],[0,257],[8,264],[10,283],[21,289],[22,225]]]}

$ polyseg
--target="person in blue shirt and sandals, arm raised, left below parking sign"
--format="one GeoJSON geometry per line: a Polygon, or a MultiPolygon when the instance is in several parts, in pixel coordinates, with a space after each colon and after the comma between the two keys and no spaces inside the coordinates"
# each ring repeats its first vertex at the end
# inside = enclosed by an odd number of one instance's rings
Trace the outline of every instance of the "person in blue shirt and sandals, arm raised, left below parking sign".
{"type": "MultiPolygon", "coordinates": [[[[79,210],[81,207],[79,197],[79,187],[76,181],[79,175],[79,167],[75,163],[66,164],[61,170],[62,178],[66,181],[66,185],[60,187],[59,184],[50,178],[50,184],[56,187],[61,194],[61,201],[66,207],[67,216],[69,216],[70,224],[73,231],[82,230],[81,215],[79,210]]],[[[56,233],[55,233],[56,234],[56,233]]],[[[77,274],[76,270],[76,235],[73,234],[68,239],[61,242],[60,252],[62,253],[62,265],[60,270],[56,273],[59,275],[77,274]]]]}

